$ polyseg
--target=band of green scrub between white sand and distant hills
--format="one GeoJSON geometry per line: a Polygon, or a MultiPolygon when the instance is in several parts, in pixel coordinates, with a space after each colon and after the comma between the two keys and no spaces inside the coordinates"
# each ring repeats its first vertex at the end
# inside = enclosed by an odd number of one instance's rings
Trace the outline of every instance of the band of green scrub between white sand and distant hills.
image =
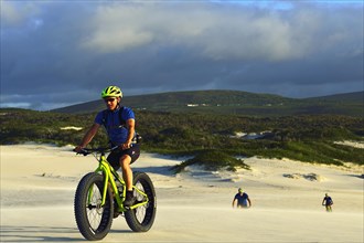
{"type": "MultiPolygon", "coordinates": [[[[39,141],[77,145],[93,124],[95,115],[0,109],[0,144],[39,141]],[[66,127],[82,129],[65,129],[66,127]]],[[[176,156],[199,156],[206,151],[216,151],[221,152],[221,156],[227,154],[240,157],[290,158],[306,162],[364,165],[363,149],[334,144],[338,140],[363,140],[364,119],[358,117],[246,117],[146,110],[136,112],[136,117],[137,130],[143,137],[141,148],[144,151],[176,156]],[[235,136],[236,133],[261,131],[265,133],[259,139],[235,136]]],[[[107,136],[104,129],[100,129],[90,146],[105,145],[107,136]]],[[[222,162],[235,165],[234,160],[222,158],[222,162]]]]}

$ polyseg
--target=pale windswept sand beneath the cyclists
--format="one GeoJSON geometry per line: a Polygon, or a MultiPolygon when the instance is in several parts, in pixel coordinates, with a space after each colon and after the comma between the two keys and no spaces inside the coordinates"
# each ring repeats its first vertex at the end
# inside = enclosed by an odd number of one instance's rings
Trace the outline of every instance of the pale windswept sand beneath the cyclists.
{"type": "MultiPolygon", "coordinates": [[[[81,178],[97,161],[72,147],[1,146],[1,242],[85,242],[73,211],[81,178]]],[[[149,232],[132,232],[122,216],[103,242],[363,242],[364,168],[246,158],[251,170],[173,175],[174,159],[142,154],[132,165],[157,192],[149,232]],[[238,188],[253,207],[233,209],[238,188]],[[321,205],[324,193],[333,212],[321,205]]]]}

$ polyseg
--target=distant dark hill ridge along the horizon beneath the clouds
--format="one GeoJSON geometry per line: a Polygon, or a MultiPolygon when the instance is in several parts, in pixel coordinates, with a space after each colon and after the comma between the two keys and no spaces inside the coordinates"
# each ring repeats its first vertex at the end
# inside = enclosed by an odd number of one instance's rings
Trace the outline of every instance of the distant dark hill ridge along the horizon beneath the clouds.
{"type": "MultiPolygon", "coordinates": [[[[311,98],[287,98],[239,91],[192,91],[127,96],[124,106],[135,110],[211,113],[247,116],[349,115],[363,116],[364,92],[311,98]]],[[[53,109],[55,113],[95,113],[105,109],[101,99],[53,109]]]]}

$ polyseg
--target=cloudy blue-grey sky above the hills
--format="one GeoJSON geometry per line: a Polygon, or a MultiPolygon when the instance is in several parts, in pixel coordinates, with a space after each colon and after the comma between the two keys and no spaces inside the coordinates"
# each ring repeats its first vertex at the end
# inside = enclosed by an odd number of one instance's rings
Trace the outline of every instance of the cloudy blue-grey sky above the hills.
{"type": "Polygon", "coordinates": [[[236,89],[363,91],[363,1],[1,1],[1,107],[236,89]]]}

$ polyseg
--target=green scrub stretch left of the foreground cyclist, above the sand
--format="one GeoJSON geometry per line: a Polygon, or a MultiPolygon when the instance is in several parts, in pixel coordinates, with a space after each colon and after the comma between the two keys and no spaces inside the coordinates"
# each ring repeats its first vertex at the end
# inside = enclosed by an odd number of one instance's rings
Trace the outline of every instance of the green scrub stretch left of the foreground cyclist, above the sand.
{"type": "MultiPolygon", "coordinates": [[[[90,126],[94,114],[69,115],[26,109],[0,109],[0,144],[12,145],[25,141],[52,142],[60,146],[76,145],[90,126]],[[68,126],[82,130],[62,129],[68,126]]],[[[99,133],[94,145],[103,145],[107,136],[99,133]]]]}

